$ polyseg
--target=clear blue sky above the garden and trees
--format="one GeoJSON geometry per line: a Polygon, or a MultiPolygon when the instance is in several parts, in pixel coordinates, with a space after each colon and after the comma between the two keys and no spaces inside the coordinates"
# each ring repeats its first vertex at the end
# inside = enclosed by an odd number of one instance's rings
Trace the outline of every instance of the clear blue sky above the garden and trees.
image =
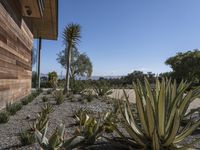
{"type": "Polygon", "coordinates": [[[41,72],[65,72],[56,58],[72,22],[82,26],[78,48],[93,75],[169,71],[168,57],[200,48],[199,10],[200,0],[59,0],[58,40],[43,42],[41,72]]]}

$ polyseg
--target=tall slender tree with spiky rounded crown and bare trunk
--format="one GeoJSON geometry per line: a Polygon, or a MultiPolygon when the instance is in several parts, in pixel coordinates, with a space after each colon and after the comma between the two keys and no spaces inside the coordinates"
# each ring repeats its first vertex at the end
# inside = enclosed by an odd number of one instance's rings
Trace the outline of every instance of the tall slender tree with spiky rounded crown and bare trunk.
{"type": "Polygon", "coordinates": [[[78,44],[78,42],[80,42],[80,30],[81,27],[79,24],[71,23],[68,26],[66,26],[63,31],[63,41],[65,44],[65,56],[67,61],[66,81],[63,91],[64,94],[68,94],[69,92],[71,54],[72,49],[76,48],[76,45],[78,44]]]}

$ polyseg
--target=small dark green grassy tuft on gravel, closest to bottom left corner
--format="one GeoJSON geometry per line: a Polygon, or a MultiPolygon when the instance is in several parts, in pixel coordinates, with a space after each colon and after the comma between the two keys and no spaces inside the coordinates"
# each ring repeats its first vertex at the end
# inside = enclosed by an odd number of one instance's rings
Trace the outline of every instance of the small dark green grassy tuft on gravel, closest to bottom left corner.
{"type": "Polygon", "coordinates": [[[36,142],[34,133],[30,132],[30,131],[27,131],[27,130],[26,131],[21,131],[19,133],[19,138],[20,138],[21,144],[23,146],[31,145],[31,144],[36,142]]]}

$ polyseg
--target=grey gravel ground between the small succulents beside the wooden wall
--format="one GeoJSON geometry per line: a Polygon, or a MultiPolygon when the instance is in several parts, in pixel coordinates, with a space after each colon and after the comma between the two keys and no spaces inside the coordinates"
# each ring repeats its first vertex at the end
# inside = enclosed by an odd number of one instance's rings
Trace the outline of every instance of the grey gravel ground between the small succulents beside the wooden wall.
{"type": "MultiPolygon", "coordinates": [[[[18,134],[21,129],[28,129],[29,124],[26,117],[30,115],[30,120],[35,118],[37,112],[40,111],[40,106],[43,104],[42,97],[46,95],[45,92],[40,94],[33,102],[17,112],[16,115],[11,116],[10,120],[6,124],[0,124],[0,150],[10,149],[10,150],[38,150],[38,145],[34,144],[31,146],[15,147],[20,145],[18,134]],[[12,148],[13,146],[13,148],[12,148]],[[9,148],[10,147],[10,148],[9,148]]],[[[61,105],[55,105],[55,101],[51,95],[46,95],[49,102],[54,104],[54,111],[50,114],[50,123],[48,135],[50,135],[53,129],[56,128],[61,122],[66,125],[66,138],[72,136],[75,127],[71,126],[74,124],[74,119],[72,118],[73,112],[80,108],[87,109],[93,113],[107,112],[112,109],[112,104],[110,101],[94,100],[90,103],[82,103],[79,101],[80,95],[75,95],[73,102],[70,100],[64,101],[61,105]]],[[[200,133],[188,137],[184,142],[190,142],[193,137],[200,138],[200,133]]],[[[197,149],[200,149],[200,143],[196,145],[197,149]]]]}

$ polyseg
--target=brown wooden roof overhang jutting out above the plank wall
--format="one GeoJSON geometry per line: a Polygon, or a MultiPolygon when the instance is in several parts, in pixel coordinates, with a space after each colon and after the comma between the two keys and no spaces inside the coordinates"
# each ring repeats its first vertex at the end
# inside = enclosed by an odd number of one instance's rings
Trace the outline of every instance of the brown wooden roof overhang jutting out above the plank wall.
{"type": "Polygon", "coordinates": [[[20,3],[24,20],[34,38],[56,40],[58,0],[20,0],[20,3]]]}

